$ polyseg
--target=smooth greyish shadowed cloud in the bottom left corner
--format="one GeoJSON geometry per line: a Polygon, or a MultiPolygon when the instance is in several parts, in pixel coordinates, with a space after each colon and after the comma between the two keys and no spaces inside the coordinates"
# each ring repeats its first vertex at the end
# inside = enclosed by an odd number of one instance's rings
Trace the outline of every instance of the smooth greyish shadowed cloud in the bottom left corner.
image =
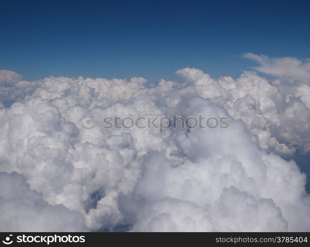
{"type": "Polygon", "coordinates": [[[51,206],[25,178],[16,173],[0,172],[0,230],[9,232],[84,231],[83,215],[63,205],[51,206]]]}

